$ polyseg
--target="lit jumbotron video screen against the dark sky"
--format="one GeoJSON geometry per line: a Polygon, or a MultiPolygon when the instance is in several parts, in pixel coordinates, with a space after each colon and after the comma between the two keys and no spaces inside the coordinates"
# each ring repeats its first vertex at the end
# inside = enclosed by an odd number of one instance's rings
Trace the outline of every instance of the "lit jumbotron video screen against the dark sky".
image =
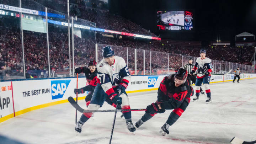
{"type": "Polygon", "coordinates": [[[192,31],[192,11],[157,11],[159,31],[192,31]]]}

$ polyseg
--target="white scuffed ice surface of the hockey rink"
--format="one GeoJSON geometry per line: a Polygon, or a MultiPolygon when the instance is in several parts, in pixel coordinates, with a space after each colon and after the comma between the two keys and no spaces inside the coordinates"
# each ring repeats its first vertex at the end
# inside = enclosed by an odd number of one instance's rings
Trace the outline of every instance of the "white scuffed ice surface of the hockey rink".
{"type": "MultiPolygon", "coordinates": [[[[112,144],[228,144],[233,137],[256,140],[256,79],[210,84],[212,103],[200,95],[182,116],[170,126],[170,134],[162,136],[160,128],[172,110],[156,114],[135,135],[117,112],[112,144]]],[[[70,94],[75,97],[74,94],[70,94]]],[[[131,108],[146,108],[155,102],[157,91],[128,94],[131,108]]],[[[85,101],[79,105],[86,107],[85,101]]],[[[104,103],[103,109],[113,109],[104,103]]],[[[132,112],[133,123],[144,111],[132,112]]],[[[78,119],[81,113],[78,112],[78,119]]],[[[26,144],[108,144],[114,112],[94,113],[80,134],[76,133],[75,108],[70,103],[31,111],[0,123],[0,134],[26,144]]],[[[0,142],[1,143],[1,142],[0,142]]]]}

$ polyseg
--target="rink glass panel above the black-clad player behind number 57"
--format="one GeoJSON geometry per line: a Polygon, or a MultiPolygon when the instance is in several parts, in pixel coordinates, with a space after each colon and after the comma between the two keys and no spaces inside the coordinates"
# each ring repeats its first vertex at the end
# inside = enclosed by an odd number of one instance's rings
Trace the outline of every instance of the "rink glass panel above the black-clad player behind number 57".
{"type": "MultiPolygon", "coordinates": [[[[72,20],[70,18],[72,23],[72,20]]],[[[90,60],[95,59],[95,31],[88,30],[88,27],[96,27],[94,22],[82,20],[80,18],[74,18],[73,36],[71,34],[71,53],[72,53],[72,37],[74,38],[74,68],[80,66],[88,67],[90,60]],[[82,28],[78,28],[81,27],[82,28]],[[87,26],[87,27],[84,27],[87,26]]],[[[70,31],[71,33],[71,31],[70,31]]],[[[72,55],[71,55],[72,58],[72,55]]],[[[72,59],[71,59],[72,61],[72,59]]],[[[71,67],[73,64],[71,64],[71,67]]],[[[84,75],[84,73],[79,74],[84,75]]]]}

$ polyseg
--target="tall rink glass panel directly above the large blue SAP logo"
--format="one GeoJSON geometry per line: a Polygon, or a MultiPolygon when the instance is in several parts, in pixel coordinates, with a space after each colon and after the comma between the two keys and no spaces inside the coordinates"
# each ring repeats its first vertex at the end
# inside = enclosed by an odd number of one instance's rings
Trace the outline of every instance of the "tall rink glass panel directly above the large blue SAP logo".
{"type": "MultiPolygon", "coordinates": [[[[54,78],[69,77],[68,15],[48,9],[49,20],[51,20],[48,22],[51,75],[54,78]],[[49,15],[50,13],[57,14],[59,17],[52,17],[49,15]]],[[[72,52],[71,42],[70,50],[72,52]]]]}

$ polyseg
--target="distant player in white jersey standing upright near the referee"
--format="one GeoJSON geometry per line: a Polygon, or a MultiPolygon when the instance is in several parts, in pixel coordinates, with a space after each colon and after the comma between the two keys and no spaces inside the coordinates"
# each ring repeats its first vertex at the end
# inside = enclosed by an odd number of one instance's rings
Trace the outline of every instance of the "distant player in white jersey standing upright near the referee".
{"type": "Polygon", "coordinates": [[[206,95],[207,95],[207,100],[206,103],[211,103],[211,94],[210,94],[210,73],[212,73],[212,60],[209,58],[205,57],[206,56],[206,50],[202,49],[200,50],[200,56],[196,60],[196,65],[191,71],[191,74],[193,75],[196,70],[197,70],[197,80],[196,80],[196,98],[193,100],[198,100],[199,99],[199,94],[200,94],[200,86],[202,83],[204,84],[204,88],[206,90],[206,95]]]}

